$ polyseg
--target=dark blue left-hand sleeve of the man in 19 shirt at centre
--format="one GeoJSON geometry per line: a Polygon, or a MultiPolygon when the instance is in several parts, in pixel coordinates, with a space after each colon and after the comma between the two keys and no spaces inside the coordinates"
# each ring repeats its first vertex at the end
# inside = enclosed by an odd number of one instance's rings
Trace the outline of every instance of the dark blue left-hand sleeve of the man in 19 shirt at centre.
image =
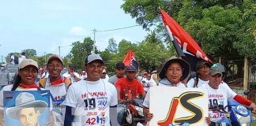
{"type": "Polygon", "coordinates": [[[70,126],[73,122],[74,117],[74,109],[73,107],[66,106],[66,113],[65,113],[65,119],[64,119],[64,126],[70,126]]]}

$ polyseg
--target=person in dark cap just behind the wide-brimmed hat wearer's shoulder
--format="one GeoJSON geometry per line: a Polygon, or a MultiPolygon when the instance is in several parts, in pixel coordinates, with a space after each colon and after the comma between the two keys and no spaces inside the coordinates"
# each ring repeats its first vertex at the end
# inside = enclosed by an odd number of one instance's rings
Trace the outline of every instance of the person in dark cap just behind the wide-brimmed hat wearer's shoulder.
{"type": "Polygon", "coordinates": [[[209,62],[200,59],[196,65],[197,76],[186,83],[187,87],[201,87],[204,83],[209,83],[209,68],[209,62]]]}

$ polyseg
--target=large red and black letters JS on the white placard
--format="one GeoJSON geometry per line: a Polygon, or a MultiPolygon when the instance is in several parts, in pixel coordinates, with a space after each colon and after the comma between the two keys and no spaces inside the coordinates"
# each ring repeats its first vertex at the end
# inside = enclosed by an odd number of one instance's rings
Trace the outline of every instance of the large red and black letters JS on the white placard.
{"type": "Polygon", "coordinates": [[[203,110],[200,107],[194,105],[192,102],[190,102],[190,100],[201,98],[203,95],[204,94],[202,92],[189,91],[189,92],[183,93],[179,97],[173,98],[171,101],[171,106],[169,108],[167,117],[165,117],[164,120],[158,121],[157,124],[160,126],[168,126],[169,124],[173,124],[173,123],[175,124],[180,124],[183,122],[187,122],[189,124],[197,123],[203,117],[203,110]],[[179,104],[183,106],[183,108],[186,109],[186,111],[192,113],[192,115],[189,117],[180,117],[175,119],[174,118],[175,113],[177,111],[177,106],[179,104]]]}

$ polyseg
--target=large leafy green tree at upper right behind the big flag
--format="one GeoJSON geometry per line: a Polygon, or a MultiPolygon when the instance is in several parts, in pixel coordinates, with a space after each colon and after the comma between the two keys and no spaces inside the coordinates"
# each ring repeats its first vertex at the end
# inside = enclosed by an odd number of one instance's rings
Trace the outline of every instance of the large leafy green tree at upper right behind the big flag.
{"type": "MultiPolygon", "coordinates": [[[[163,25],[161,26],[158,6],[201,43],[210,57],[256,56],[254,0],[133,0],[125,1],[122,9],[136,18],[143,28],[149,29],[156,24],[160,33],[166,33],[163,25]]],[[[165,37],[168,35],[165,34],[165,37]]]]}

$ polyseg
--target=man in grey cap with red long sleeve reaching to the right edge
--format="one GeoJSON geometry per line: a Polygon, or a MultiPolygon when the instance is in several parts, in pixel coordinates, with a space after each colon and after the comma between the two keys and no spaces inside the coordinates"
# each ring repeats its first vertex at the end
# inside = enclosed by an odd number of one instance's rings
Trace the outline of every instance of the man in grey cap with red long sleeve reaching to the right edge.
{"type": "MultiPolygon", "coordinates": [[[[201,88],[206,89],[208,91],[209,96],[209,106],[227,106],[228,98],[233,98],[236,102],[240,104],[252,107],[253,113],[256,111],[256,105],[254,102],[247,100],[247,98],[243,98],[241,95],[237,95],[230,87],[228,87],[227,83],[223,83],[222,81],[223,70],[220,69],[218,65],[213,65],[209,70],[209,83],[205,83],[201,85],[201,88]]],[[[224,115],[220,115],[219,113],[213,112],[209,110],[209,118],[207,118],[208,124],[216,122],[220,120],[224,115]]]]}

